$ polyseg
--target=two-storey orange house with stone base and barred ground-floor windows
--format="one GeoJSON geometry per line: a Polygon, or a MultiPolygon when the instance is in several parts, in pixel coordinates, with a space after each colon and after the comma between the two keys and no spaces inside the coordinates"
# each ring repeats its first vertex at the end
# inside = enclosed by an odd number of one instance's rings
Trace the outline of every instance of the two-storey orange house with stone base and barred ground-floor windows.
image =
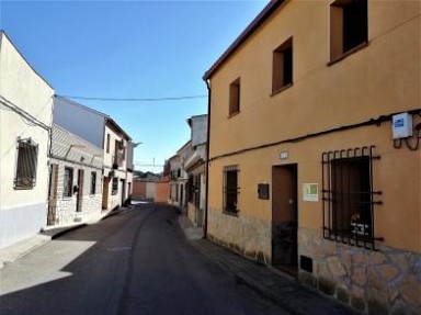
{"type": "Polygon", "coordinates": [[[207,237],[421,314],[421,2],[270,1],[204,75],[207,237]]]}

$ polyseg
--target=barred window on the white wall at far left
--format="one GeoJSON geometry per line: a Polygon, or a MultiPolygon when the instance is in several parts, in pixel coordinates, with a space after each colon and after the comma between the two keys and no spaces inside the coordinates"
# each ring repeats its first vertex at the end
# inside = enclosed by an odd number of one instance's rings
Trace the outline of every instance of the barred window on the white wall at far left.
{"type": "Polygon", "coordinates": [[[33,189],[36,183],[38,145],[29,139],[18,139],[18,165],[14,189],[33,189]]]}

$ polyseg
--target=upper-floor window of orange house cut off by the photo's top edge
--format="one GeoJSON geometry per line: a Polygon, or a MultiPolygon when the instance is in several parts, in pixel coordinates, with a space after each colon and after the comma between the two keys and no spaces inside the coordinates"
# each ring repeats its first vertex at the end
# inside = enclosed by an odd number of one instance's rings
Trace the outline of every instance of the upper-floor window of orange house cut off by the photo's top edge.
{"type": "Polygon", "coordinates": [[[330,58],[340,58],[368,38],[367,0],[337,0],[330,5],[330,58]]]}

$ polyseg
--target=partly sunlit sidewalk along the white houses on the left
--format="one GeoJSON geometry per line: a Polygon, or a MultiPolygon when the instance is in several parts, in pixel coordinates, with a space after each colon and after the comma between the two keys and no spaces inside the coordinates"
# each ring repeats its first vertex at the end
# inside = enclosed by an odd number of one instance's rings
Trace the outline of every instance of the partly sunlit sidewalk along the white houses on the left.
{"type": "Polygon", "coordinates": [[[27,254],[38,248],[39,246],[44,245],[45,243],[64,235],[65,233],[81,228],[90,224],[95,224],[106,217],[116,215],[123,211],[128,211],[128,210],[130,210],[130,206],[120,207],[114,211],[111,210],[111,211],[102,212],[95,218],[92,218],[84,223],[75,223],[66,226],[54,226],[54,225],[47,226],[45,229],[43,229],[42,232],[39,232],[34,236],[22,239],[8,247],[0,249],[0,269],[7,266],[8,263],[11,263],[26,256],[27,254]]]}

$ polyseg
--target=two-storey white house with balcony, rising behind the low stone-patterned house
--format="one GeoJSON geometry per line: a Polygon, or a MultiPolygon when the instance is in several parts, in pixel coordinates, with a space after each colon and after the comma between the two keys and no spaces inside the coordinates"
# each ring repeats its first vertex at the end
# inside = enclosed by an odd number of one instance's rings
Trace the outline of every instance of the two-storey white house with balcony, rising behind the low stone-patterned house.
{"type": "Polygon", "coordinates": [[[53,121],[102,149],[102,209],[125,204],[133,189],[133,143],[109,115],[56,97],[53,121]],[[89,126],[89,127],[87,127],[89,126]]]}

